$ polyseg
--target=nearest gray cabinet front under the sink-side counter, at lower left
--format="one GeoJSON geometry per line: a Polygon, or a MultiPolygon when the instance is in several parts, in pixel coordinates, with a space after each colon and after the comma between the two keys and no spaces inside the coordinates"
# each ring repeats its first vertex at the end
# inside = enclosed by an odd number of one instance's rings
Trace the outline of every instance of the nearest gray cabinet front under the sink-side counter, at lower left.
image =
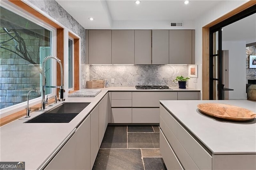
{"type": "Polygon", "coordinates": [[[46,170],[90,169],[90,115],[46,166],[46,170]]]}

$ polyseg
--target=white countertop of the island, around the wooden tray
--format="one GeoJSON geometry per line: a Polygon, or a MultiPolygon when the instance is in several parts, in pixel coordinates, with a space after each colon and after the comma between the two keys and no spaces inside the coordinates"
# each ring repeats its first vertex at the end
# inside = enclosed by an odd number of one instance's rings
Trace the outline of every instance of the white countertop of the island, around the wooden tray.
{"type": "Polygon", "coordinates": [[[198,111],[200,103],[224,103],[256,113],[256,103],[247,100],[160,101],[172,115],[214,154],[256,154],[256,119],[234,122],[215,119],[198,111]]]}

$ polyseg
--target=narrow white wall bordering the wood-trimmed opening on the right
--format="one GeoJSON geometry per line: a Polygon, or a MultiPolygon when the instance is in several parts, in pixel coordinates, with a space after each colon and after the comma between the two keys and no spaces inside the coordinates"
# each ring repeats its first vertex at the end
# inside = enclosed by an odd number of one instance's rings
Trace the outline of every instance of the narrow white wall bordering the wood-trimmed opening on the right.
{"type": "Polygon", "coordinates": [[[190,87],[202,90],[202,27],[227,14],[228,12],[238,8],[247,1],[248,0],[220,1],[218,6],[215,6],[215,8],[212,8],[212,10],[207,11],[195,21],[195,64],[198,65],[198,81],[197,83],[194,83],[193,80],[190,80],[190,87]]]}

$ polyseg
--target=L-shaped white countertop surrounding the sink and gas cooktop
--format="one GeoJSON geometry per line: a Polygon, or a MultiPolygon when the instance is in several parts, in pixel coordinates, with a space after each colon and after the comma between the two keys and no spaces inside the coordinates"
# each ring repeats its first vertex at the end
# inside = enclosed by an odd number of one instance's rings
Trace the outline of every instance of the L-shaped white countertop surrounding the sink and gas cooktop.
{"type": "MultiPolygon", "coordinates": [[[[38,169],[66,137],[82,122],[94,109],[108,91],[200,91],[196,89],[173,90],[137,90],[135,87],[107,87],[95,97],[68,97],[64,102],[90,102],[70,123],[24,123],[44,111],[31,113],[30,118],[18,119],[0,127],[0,161],[24,161],[26,170],[38,169]]],[[[57,107],[62,102],[47,106],[45,111],[57,107]]]]}

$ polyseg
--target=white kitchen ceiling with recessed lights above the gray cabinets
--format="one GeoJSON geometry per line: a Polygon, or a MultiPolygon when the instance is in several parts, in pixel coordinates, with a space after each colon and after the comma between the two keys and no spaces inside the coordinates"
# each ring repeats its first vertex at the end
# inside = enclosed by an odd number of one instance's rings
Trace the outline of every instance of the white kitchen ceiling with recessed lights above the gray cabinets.
{"type": "MultiPolygon", "coordinates": [[[[220,0],[56,0],[85,29],[114,29],[112,23],[130,21],[195,20],[220,0]],[[88,18],[94,18],[94,21],[88,18]]],[[[132,22],[134,21],[134,22],[132,22]]],[[[153,22],[152,22],[153,23],[153,22]]],[[[150,27],[150,24],[148,24],[150,27]]],[[[150,28],[148,28],[150,29],[150,28]]]]}

